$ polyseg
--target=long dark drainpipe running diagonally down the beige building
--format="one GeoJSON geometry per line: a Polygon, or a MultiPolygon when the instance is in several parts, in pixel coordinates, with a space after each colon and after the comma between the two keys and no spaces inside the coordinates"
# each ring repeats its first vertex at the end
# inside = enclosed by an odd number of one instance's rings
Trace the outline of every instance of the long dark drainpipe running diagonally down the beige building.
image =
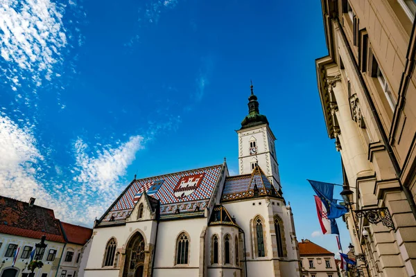
{"type": "MultiPolygon", "coordinates": [[[[338,25],[340,25],[340,21],[338,20],[338,18],[336,18],[336,21],[338,21],[338,25]]],[[[376,120],[376,125],[380,130],[381,139],[383,139],[385,148],[388,152],[388,156],[390,157],[390,160],[392,161],[393,168],[395,168],[397,180],[399,181],[399,185],[403,189],[404,195],[406,196],[406,199],[408,200],[410,210],[412,211],[413,216],[416,218],[415,200],[412,197],[412,193],[410,192],[410,189],[407,186],[404,186],[403,184],[401,184],[401,180],[400,180],[401,169],[400,169],[400,166],[399,166],[399,162],[397,161],[397,159],[395,157],[395,153],[393,153],[392,147],[391,147],[390,143],[388,142],[387,134],[385,134],[385,131],[383,129],[383,125],[381,124],[381,120],[379,118],[379,114],[377,114],[376,107],[374,106],[374,103],[372,102],[372,99],[371,99],[371,96],[370,96],[370,91],[368,91],[368,89],[367,89],[367,86],[364,82],[363,75],[361,74],[361,71],[358,68],[358,64],[357,64],[357,62],[354,58],[354,54],[352,53],[352,49],[349,46],[349,43],[347,41],[347,37],[345,36],[343,28],[340,28],[340,33],[341,33],[341,35],[343,35],[345,45],[347,46],[347,49],[348,49],[349,57],[351,58],[352,63],[354,64],[354,69],[356,70],[356,73],[358,75],[358,80],[360,80],[361,87],[363,87],[363,90],[364,90],[364,93],[365,93],[365,98],[367,98],[367,101],[370,105],[370,109],[372,111],[372,116],[374,116],[374,119],[376,120]]]]}

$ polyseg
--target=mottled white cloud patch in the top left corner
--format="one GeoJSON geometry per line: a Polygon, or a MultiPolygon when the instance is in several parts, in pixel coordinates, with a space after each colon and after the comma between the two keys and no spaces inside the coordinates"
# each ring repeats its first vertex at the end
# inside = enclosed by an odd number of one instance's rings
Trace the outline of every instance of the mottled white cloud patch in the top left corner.
{"type": "MultiPolygon", "coordinates": [[[[67,46],[62,24],[64,4],[49,0],[3,0],[0,6],[0,55],[8,62],[4,74],[18,84],[21,72],[28,72],[40,86],[51,79],[53,66],[62,62],[67,46]]],[[[14,89],[14,90],[15,90],[14,89]]]]}

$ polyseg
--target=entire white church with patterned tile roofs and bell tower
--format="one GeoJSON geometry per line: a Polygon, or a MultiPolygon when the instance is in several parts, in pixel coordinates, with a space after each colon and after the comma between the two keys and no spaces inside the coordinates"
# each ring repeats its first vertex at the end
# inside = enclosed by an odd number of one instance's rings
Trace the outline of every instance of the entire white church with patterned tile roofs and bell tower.
{"type": "Polygon", "coordinates": [[[133,179],[96,220],[84,276],[300,276],[275,136],[253,91],[227,163],[133,179]]]}

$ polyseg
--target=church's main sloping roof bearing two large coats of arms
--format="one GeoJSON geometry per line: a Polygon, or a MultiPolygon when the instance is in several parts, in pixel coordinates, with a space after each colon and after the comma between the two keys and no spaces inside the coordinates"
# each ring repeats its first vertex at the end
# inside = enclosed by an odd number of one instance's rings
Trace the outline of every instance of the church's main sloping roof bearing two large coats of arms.
{"type": "Polygon", "coordinates": [[[203,215],[220,177],[223,164],[145,179],[134,179],[100,221],[125,220],[146,191],[160,201],[160,218],[203,215]]]}

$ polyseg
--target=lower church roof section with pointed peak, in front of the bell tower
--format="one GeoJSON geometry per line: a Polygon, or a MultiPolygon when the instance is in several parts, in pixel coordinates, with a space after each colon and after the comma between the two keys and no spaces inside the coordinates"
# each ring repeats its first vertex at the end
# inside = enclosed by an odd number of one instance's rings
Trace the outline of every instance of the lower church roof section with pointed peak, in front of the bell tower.
{"type": "Polygon", "coordinates": [[[237,175],[225,179],[223,201],[257,195],[281,197],[259,166],[254,168],[252,174],[237,175]]]}

